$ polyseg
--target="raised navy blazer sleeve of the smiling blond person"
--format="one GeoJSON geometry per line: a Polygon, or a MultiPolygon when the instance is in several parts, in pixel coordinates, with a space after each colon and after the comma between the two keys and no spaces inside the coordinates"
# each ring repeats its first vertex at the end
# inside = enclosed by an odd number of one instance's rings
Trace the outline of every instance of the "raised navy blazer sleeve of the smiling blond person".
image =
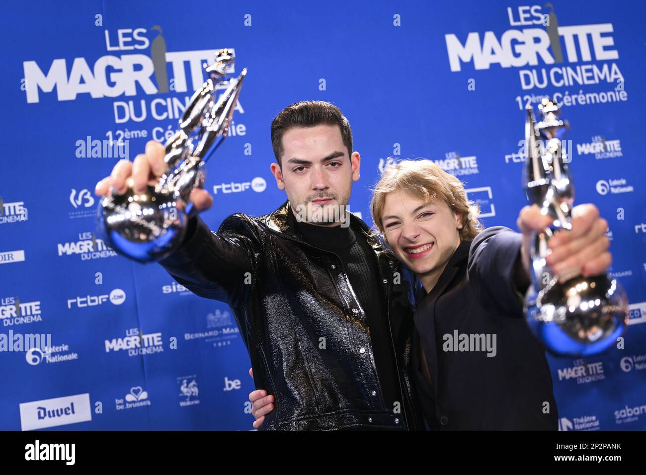
{"type": "Polygon", "coordinates": [[[523,294],[519,289],[526,289],[526,284],[518,281],[522,242],[520,233],[494,226],[483,230],[471,243],[469,282],[486,310],[510,317],[523,315],[523,294]]]}

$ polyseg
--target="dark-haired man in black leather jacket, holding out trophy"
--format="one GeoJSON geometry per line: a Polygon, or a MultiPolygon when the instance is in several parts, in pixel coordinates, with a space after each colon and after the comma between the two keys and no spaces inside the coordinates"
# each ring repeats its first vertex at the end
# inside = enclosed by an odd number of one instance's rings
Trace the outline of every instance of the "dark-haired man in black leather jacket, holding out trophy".
{"type": "MultiPolygon", "coordinates": [[[[422,428],[411,378],[412,295],[397,260],[345,213],[359,153],[331,103],[290,105],[271,125],[271,171],[288,200],[268,215],[236,213],[217,233],[192,218],[182,247],[160,264],[196,295],[231,306],[255,384],[275,398],[262,428],[422,428]]],[[[163,173],[149,142],[97,184],[143,191],[163,173]]],[[[207,209],[213,198],[195,189],[207,209]]]]}

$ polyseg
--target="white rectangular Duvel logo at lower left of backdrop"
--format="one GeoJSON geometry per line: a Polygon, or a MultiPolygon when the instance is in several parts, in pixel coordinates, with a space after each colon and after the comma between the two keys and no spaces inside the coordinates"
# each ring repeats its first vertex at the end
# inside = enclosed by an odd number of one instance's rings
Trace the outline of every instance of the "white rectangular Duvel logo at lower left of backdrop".
{"type": "Polygon", "coordinates": [[[91,420],[89,393],[20,404],[22,430],[57,427],[91,420]]]}

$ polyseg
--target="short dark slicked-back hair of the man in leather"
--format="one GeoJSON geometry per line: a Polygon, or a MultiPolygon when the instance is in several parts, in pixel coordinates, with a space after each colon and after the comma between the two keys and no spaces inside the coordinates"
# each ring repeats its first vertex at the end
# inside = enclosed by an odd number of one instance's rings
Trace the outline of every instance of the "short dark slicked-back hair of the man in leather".
{"type": "Polygon", "coordinates": [[[352,154],[352,131],[348,119],[339,107],[326,101],[299,101],[288,105],[271,122],[271,145],[274,148],[276,162],[280,163],[285,153],[282,137],[286,131],[295,127],[315,127],[316,125],[339,125],[343,144],[352,154]]]}

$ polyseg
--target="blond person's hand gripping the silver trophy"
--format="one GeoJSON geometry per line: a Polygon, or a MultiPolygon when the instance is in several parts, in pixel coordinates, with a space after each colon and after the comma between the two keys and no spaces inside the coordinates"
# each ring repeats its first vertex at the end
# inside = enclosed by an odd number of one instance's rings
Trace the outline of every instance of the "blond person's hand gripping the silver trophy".
{"type": "MultiPolygon", "coordinates": [[[[523,268],[530,275],[528,249],[532,231],[542,231],[552,224],[552,218],[541,215],[539,207],[525,206],[518,215],[517,226],[523,233],[521,249],[523,268]]],[[[572,229],[562,229],[548,242],[547,264],[552,272],[567,280],[577,275],[590,277],[605,273],[612,264],[608,249],[610,240],[605,232],[608,222],[599,216],[593,204],[581,204],[572,209],[572,229]]]]}

